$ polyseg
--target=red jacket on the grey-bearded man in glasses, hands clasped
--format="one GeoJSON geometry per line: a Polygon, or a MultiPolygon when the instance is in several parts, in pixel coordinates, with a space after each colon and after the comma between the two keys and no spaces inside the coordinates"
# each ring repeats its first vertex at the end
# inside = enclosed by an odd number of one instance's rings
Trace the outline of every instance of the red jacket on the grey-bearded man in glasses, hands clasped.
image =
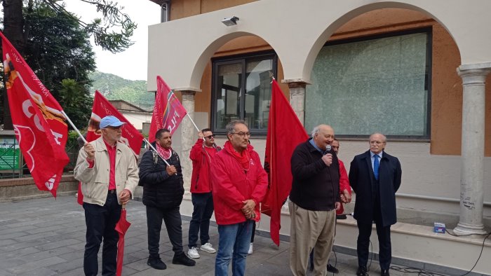
{"type": "Polygon", "coordinates": [[[244,170],[227,149],[215,156],[211,179],[215,219],[218,225],[244,222],[245,215],[241,211],[244,200],[255,201],[256,216],[253,220],[260,220],[259,204],[266,195],[268,176],[262,168],[259,155],[253,151],[253,146],[249,145],[246,151],[250,164],[248,170],[244,170]]]}

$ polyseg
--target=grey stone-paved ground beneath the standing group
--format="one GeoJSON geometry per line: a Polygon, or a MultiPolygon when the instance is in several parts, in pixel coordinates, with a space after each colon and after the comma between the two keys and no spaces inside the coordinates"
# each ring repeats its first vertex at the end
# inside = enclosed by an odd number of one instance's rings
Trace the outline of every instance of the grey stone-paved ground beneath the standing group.
{"type": "MultiPolygon", "coordinates": [[[[172,246],[167,232],[161,232],[161,258],[166,270],[147,265],[147,222],[142,202],[128,205],[123,275],[214,275],[215,254],[200,251],[196,266],[173,265],[172,246]]],[[[164,226],[164,225],[163,225],[164,226]]],[[[189,221],[182,221],[184,249],[187,249],[189,221]]],[[[85,244],[83,208],[73,195],[0,203],[0,276],[7,275],[83,275],[85,244]]],[[[210,242],[218,245],[217,228],[210,226],[210,242]]],[[[289,243],[279,247],[269,237],[256,235],[254,253],[247,258],[247,275],[291,275],[289,243]]],[[[102,247],[101,250],[102,251],[102,247]]],[[[187,251],[187,250],[185,250],[187,251]]],[[[355,275],[356,257],[336,254],[339,275],[355,275]]],[[[334,263],[331,257],[331,263],[334,263]]],[[[99,263],[100,264],[100,263],[99,263]]],[[[99,270],[100,271],[100,270],[99,270]]],[[[378,264],[372,263],[372,275],[379,275],[378,264]]],[[[230,273],[231,275],[231,273],[230,273]]],[[[391,275],[405,273],[391,271],[391,275]]]]}

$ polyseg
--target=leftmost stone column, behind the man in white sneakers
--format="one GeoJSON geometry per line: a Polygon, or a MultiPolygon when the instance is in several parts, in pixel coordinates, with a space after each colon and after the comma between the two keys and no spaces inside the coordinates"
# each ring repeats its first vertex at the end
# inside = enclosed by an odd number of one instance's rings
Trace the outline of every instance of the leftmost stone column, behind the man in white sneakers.
{"type": "MultiPolygon", "coordinates": [[[[182,106],[186,109],[189,117],[194,120],[194,96],[196,91],[184,90],[180,91],[182,94],[182,106]]],[[[182,177],[184,178],[184,191],[189,191],[191,186],[191,173],[193,170],[193,165],[191,159],[189,159],[189,152],[191,147],[194,145],[194,140],[196,138],[195,134],[196,127],[187,116],[182,119],[181,122],[181,166],[182,166],[182,177]]]]}

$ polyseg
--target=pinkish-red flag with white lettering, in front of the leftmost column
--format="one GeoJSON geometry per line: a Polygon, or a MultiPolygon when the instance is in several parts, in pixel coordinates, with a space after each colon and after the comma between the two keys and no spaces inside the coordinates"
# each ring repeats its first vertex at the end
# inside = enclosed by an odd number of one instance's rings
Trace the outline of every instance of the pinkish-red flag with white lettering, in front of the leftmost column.
{"type": "Polygon", "coordinates": [[[161,128],[168,129],[172,135],[186,113],[186,109],[175,97],[167,83],[163,81],[161,76],[157,76],[157,95],[155,96],[154,113],[152,113],[152,123],[148,133],[149,139],[153,141],[155,132],[161,128]]]}

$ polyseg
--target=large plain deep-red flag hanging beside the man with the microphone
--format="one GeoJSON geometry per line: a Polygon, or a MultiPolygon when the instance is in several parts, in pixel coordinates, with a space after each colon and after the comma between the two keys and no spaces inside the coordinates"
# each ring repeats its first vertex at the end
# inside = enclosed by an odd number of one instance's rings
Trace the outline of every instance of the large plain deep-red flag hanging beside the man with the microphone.
{"type": "Polygon", "coordinates": [[[283,92],[273,80],[271,105],[269,106],[268,133],[264,169],[269,174],[266,197],[262,202],[262,213],[271,216],[269,232],[271,240],[280,244],[281,207],[292,189],[290,158],[295,147],[309,138],[295,111],[283,92]],[[285,139],[288,137],[288,139],[285,139]]]}

